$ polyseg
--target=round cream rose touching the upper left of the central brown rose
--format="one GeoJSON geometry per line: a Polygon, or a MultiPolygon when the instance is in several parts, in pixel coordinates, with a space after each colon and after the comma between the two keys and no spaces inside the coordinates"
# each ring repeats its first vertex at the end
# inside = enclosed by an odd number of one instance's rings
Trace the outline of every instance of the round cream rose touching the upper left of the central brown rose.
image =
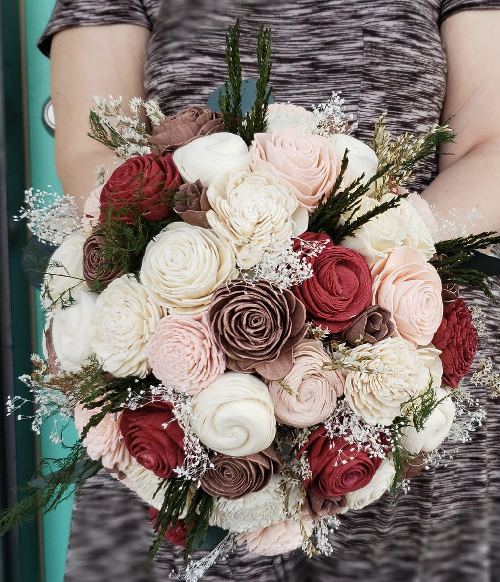
{"type": "Polygon", "coordinates": [[[158,305],[177,315],[196,315],[237,276],[236,258],[212,230],[175,222],[148,244],[140,276],[158,305]]]}

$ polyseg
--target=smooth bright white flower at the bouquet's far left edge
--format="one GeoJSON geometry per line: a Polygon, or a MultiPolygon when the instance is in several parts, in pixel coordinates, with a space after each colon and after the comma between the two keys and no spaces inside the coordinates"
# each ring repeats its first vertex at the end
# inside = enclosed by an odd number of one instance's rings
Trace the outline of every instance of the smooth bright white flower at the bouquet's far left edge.
{"type": "Polygon", "coordinates": [[[90,322],[97,297],[97,293],[80,289],[75,294],[75,303],[54,311],[52,344],[62,370],[76,372],[93,355],[90,322]]]}

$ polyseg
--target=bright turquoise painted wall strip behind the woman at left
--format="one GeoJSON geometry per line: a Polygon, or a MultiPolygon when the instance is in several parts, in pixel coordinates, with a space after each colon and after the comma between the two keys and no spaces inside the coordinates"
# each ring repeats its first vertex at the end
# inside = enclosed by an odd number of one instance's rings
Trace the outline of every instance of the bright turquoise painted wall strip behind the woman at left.
{"type": "MultiPolygon", "coordinates": [[[[29,98],[29,144],[31,165],[31,186],[41,190],[62,192],[54,166],[54,138],[42,123],[42,110],[50,95],[49,59],[41,54],[36,41],[48,22],[55,0],[25,0],[26,3],[26,45],[28,63],[29,98]]],[[[37,312],[37,335],[41,353],[42,316],[37,312]]],[[[42,457],[57,458],[64,455],[60,445],[49,439],[52,424],[42,427],[40,453],[42,457]]],[[[74,431],[65,431],[65,438],[74,441],[74,431]]],[[[66,441],[67,442],[67,441],[66,441]]],[[[69,524],[72,500],[62,503],[43,520],[44,561],[46,582],[62,582],[66,551],[68,548],[69,524]]]]}

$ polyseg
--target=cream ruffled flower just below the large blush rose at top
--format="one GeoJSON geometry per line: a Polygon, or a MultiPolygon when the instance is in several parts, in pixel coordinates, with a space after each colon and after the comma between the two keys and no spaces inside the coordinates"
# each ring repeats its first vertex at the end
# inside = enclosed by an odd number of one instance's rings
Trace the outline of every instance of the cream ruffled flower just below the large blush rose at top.
{"type": "MultiPolygon", "coordinates": [[[[207,198],[213,208],[207,212],[210,226],[228,241],[237,264],[244,269],[259,262],[265,250],[282,246],[299,234],[293,221],[297,197],[263,170],[233,171],[210,186],[207,198]]],[[[307,211],[300,211],[307,223],[307,211]]]]}

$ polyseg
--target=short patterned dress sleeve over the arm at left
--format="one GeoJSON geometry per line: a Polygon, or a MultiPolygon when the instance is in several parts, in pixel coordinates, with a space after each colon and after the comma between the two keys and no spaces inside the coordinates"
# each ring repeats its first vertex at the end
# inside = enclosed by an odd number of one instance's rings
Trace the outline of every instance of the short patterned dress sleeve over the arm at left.
{"type": "Polygon", "coordinates": [[[151,30],[143,0],[57,0],[38,48],[50,56],[52,37],[60,30],[104,24],[139,24],[151,30]]]}

